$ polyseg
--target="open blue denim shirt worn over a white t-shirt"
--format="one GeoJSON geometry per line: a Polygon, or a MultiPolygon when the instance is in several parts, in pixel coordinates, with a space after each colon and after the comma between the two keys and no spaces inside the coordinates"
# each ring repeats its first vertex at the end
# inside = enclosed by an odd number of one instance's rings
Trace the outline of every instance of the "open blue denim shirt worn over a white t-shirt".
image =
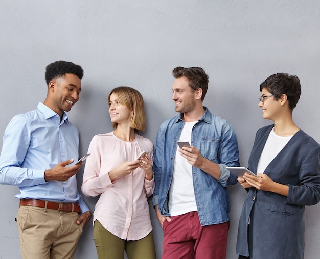
{"type": "MultiPolygon", "coordinates": [[[[221,177],[216,180],[200,168],[192,167],[193,189],[202,226],[224,223],[229,220],[230,199],[228,184],[236,184],[237,176],[225,167],[240,166],[236,134],[226,120],[210,113],[206,108],[192,129],[191,145],[198,148],[202,157],[217,163],[221,177]]],[[[177,141],[184,127],[181,114],[163,122],[158,130],[154,153],[153,172],[155,189],[153,206],[164,216],[171,216],[168,208],[169,188],[172,180],[177,141]]]]}

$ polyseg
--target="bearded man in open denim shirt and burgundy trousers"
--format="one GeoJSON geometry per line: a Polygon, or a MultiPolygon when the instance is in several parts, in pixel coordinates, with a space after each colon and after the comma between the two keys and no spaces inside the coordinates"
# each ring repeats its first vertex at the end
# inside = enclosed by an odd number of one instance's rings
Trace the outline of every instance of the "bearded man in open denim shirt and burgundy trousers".
{"type": "Polygon", "coordinates": [[[200,67],[176,67],[172,99],[178,116],[159,128],[154,153],[152,203],[164,230],[163,257],[225,258],[230,200],[237,176],[237,137],[230,123],[202,106],[208,75],[200,67]],[[191,147],[178,148],[178,141],[191,147]]]}

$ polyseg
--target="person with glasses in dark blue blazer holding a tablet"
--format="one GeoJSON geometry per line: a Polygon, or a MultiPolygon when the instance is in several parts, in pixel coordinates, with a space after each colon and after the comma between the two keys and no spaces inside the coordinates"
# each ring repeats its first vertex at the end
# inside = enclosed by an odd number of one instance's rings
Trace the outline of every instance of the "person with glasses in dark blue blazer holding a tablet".
{"type": "Polygon", "coordinates": [[[273,125],[260,128],[249,170],[238,182],[246,188],[238,228],[239,258],[304,257],[306,205],[320,201],[320,145],[292,120],[301,94],[300,80],[284,73],[260,85],[259,107],[273,125]]]}

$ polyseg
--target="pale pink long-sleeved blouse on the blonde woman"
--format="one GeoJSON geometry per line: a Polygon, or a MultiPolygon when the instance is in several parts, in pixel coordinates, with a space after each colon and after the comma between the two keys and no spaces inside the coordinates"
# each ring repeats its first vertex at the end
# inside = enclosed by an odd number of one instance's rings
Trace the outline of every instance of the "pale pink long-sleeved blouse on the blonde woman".
{"type": "Polygon", "coordinates": [[[154,181],[145,179],[145,172],[137,168],[125,177],[111,182],[108,172],[123,161],[133,161],[142,151],[150,151],[152,142],[138,134],[132,142],[118,139],[113,132],[93,137],[85,162],[81,190],[86,196],[98,196],[93,220],[99,220],[105,229],[125,240],[138,240],[151,230],[149,197],[154,181]]]}

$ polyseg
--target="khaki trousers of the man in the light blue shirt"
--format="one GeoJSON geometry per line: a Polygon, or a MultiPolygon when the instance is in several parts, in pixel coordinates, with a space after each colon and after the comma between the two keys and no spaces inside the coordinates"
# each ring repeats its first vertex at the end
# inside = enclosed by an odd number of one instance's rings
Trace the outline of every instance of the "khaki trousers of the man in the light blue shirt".
{"type": "Polygon", "coordinates": [[[83,224],[77,212],[20,206],[17,224],[22,259],[73,258],[83,224]]]}

